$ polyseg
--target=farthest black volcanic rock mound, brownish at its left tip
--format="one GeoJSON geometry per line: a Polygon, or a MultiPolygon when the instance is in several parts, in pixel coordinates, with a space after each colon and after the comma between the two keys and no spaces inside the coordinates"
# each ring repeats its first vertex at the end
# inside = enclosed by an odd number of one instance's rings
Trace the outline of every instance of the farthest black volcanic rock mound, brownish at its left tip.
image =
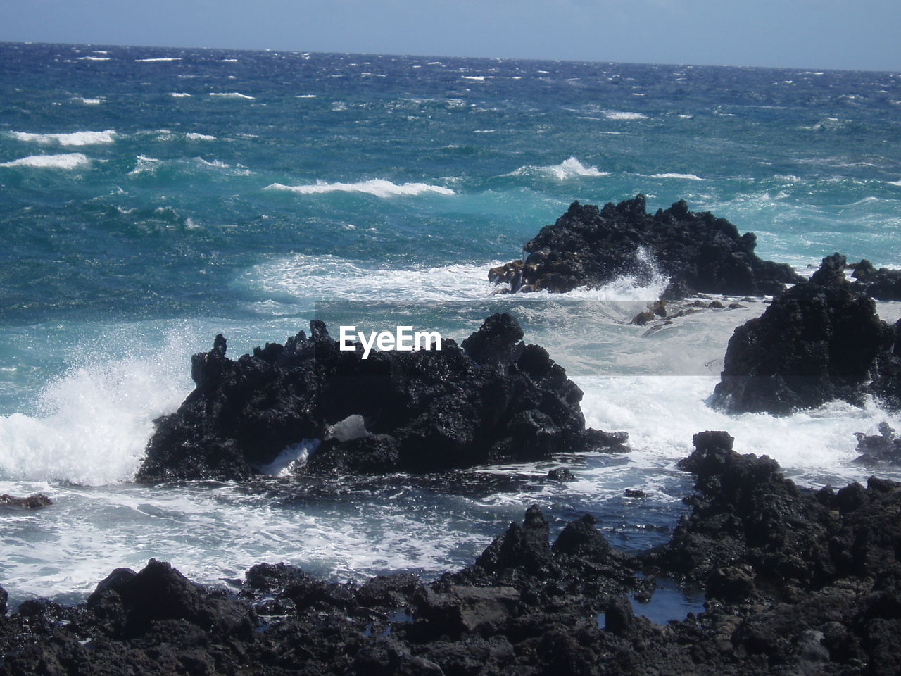
{"type": "Polygon", "coordinates": [[[684,201],[650,215],[644,196],[603,209],[573,202],[553,225],[523,247],[525,260],[493,268],[488,279],[505,290],[565,293],[623,275],[669,276],[664,297],[694,292],[762,296],[800,281],[785,264],[761,260],[754,233],[739,234],[724,218],[692,213],[684,201]]]}

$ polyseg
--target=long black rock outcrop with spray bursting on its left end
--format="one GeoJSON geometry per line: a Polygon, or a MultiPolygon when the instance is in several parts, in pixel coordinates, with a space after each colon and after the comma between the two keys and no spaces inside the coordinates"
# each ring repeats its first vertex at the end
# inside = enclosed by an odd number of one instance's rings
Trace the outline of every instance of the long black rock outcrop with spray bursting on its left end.
{"type": "Polygon", "coordinates": [[[196,388],[156,421],[136,479],[243,480],[295,458],[307,473],[380,473],[625,448],[623,433],[586,429],[582,391],[510,315],[462,345],[368,359],[310,327],[235,361],[222,335],[196,354],[196,388]]]}

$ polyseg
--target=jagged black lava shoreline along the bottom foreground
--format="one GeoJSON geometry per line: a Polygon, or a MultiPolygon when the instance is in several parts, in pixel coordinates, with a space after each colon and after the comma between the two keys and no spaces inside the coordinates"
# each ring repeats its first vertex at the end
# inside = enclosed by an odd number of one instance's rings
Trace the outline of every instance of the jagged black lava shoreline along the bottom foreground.
{"type": "Polygon", "coordinates": [[[473,565],[431,583],[335,584],[264,563],[229,593],[151,560],[76,607],[37,599],[4,617],[0,590],[0,674],[901,671],[901,484],[800,489],[724,432],[694,441],[681,463],[696,474],[692,512],[656,550],[618,552],[588,515],[551,545],[530,507],[473,565]],[[626,594],[647,596],[640,571],[700,581],[705,612],[637,617],[626,594]]]}

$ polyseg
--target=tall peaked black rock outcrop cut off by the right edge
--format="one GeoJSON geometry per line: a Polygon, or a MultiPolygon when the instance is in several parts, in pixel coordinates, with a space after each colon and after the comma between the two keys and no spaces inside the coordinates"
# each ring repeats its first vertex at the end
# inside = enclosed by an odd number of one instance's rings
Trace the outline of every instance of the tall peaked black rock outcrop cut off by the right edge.
{"type": "Polygon", "coordinates": [[[845,258],[824,258],[766,312],[735,329],[712,404],[731,413],[787,415],[833,399],[898,396],[896,328],[844,278],[845,258]]]}

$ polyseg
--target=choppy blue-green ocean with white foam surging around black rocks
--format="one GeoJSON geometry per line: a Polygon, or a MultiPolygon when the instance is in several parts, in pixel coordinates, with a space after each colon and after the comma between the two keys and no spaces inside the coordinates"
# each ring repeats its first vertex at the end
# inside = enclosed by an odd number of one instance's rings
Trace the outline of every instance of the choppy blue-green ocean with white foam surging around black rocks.
{"type": "Polygon", "coordinates": [[[819,487],[869,476],[854,433],[901,425],[872,401],[707,407],[762,302],[649,329],[629,321],[660,275],[553,296],[487,281],[572,201],[638,193],[724,216],[802,274],[833,251],[901,267],[901,74],[2,43],[0,95],[0,493],[55,502],[0,507],[13,603],[83,599],[150,557],[210,584],[279,561],[428,579],[534,503],[552,529],[590,512],[635,552],[687,512],[675,463],[698,431],[819,487]],[[460,341],[501,311],[631,452],[439,480],[130,482],[216,333],[232,357],[316,317],[334,337],[460,341]],[[544,479],[560,466],[576,480],[544,479]]]}

